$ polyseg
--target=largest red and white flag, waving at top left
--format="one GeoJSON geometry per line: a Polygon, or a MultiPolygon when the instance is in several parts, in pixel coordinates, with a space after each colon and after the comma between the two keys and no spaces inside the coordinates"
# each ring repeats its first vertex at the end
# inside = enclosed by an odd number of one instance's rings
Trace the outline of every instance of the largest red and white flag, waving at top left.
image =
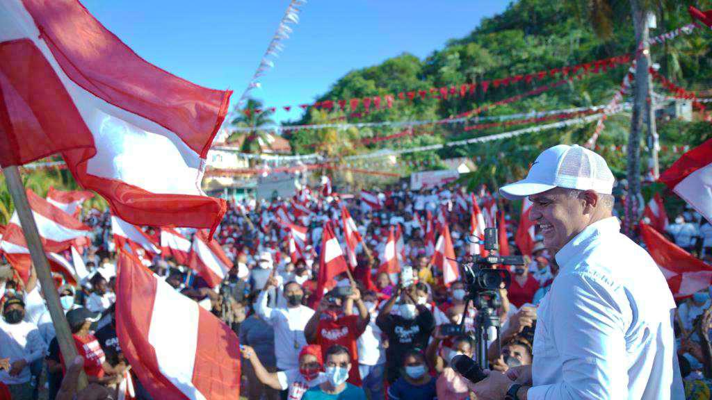
{"type": "Polygon", "coordinates": [[[0,26],[0,166],[61,153],[125,221],[218,226],[200,182],[229,91],[147,63],[77,0],[0,1],[0,26]]]}

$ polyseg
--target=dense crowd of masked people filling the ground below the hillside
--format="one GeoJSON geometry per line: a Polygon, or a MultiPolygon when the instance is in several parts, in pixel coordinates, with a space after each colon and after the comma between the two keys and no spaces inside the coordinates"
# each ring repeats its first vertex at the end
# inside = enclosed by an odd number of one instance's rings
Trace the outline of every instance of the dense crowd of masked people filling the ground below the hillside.
{"type": "MultiPolygon", "coordinates": [[[[142,260],[175,290],[231,324],[244,358],[240,396],[249,400],[474,399],[466,380],[449,364],[458,354],[475,357],[478,309],[462,280],[444,283],[422,222],[428,212],[441,214],[457,260],[466,262],[471,214],[456,204],[458,197],[472,199],[464,194],[459,184],[419,190],[399,184],[377,192],[378,209],[358,196],[307,189],[287,199],[231,201],[214,236],[234,261],[219,288],[210,288],[171,256],[145,253],[142,260]],[[295,203],[299,213],[293,212],[295,203]],[[318,293],[322,226],[333,221],[345,246],[342,205],[363,238],[356,249],[357,266],[338,275],[327,293],[318,293]],[[308,227],[298,257],[290,249],[290,229],[280,219],[285,209],[294,223],[308,227]],[[392,226],[402,234],[399,263],[412,266],[402,271],[412,270],[412,276],[381,268],[379,255],[386,251],[392,226]]],[[[500,228],[517,254],[518,206],[484,189],[478,194],[481,205],[497,204],[506,225],[500,228]]],[[[83,251],[90,276],[57,290],[84,370],[90,383],[150,399],[122,356],[115,331],[116,245],[110,214],[85,213],[83,219],[93,227],[83,251]]],[[[145,233],[159,243],[159,229],[147,227],[145,233]]],[[[699,214],[684,210],[666,234],[681,248],[711,260],[712,226],[699,214]]],[[[558,271],[555,254],[535,239],[524,265],[505,266],[511,285],[493,293],[501,322],[501,330],[487,337],[493,370],[533,362],[537,306],[558,271]]],[[[0,296],[0,390],[11,399],[38,399],[46,387],[48,399],[60,398],[68,367],[36,273],[25,282],[9,265],[0,266],[0,296]]],[[[711,308],[710,291],[701,290],[681,300],[677,312],[679,361],[691,399],[710,396],[711,308]]]]}

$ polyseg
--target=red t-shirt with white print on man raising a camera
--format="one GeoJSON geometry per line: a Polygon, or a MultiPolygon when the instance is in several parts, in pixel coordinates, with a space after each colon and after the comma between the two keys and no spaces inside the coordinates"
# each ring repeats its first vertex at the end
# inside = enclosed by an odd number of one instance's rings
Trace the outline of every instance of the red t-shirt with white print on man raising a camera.
{"type": "Polygon", "coordinates": [[[326,363],[326,350],[333,344],[341,344],[349,349],[351,356],[350,384],[361,386],[361,374],[358,372],[358,347],[356,340],[363,333],[358,330],[358,315],[340,315],[337,320],[324,313],[317,325],[317,344],[321,346],[322,357],[326,363]]]}

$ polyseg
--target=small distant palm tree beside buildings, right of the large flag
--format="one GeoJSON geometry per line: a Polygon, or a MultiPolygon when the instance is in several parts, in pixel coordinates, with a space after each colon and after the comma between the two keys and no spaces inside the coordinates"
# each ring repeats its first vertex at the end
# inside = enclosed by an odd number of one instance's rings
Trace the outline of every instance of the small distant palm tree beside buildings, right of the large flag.
{"type": "Polygon", "coordinates": [[[270,125],[275,125],[273,110],[263,109],[263,104],[260,100],[248,99],[247,104],[242,110],[239,110],[239,116],[231,121],[231,125],[235,127],[249,127],[254,130],[236,131],[228,138],[228,142],[236,140],[238,137],[245,135],[245,140],[242,142],[241,151],[246,153],[258,153],[261,147],[271,147],[273,142],[270,134],[266,130],[258,130],[256,128],[264,128],[270,125]]]}

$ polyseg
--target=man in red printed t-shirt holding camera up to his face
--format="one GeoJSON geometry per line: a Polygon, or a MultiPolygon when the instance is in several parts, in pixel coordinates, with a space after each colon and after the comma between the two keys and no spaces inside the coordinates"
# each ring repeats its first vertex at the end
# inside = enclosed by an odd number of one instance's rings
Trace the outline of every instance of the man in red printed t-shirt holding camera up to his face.
{"type": "MultiPolygon", "coordinates": [[[[321,299],[316,312],[304,328],[304,335],[310,344],[319,344],[323,352],[334,344],[340,344],[349,350],[350,359],[357,360],[357,339],[366,330],[370,319],[370,313],[361,300],[361,293],[356,283],[352,282],[350,287],[334,288],[321,299]],[[357,315],[352,315],[354,303],[358,309],[357,315]]],[[[350,364],[348,382],[361,386],[357,362],[350,364]]]]}

